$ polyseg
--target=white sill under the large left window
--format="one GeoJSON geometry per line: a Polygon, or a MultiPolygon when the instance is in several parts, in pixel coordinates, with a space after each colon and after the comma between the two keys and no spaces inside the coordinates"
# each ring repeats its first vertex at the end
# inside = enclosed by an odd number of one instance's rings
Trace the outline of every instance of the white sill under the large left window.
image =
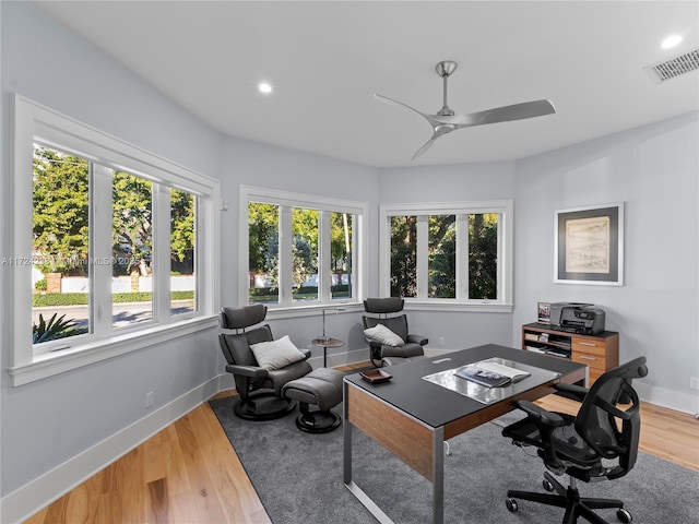
{"type": "Polygon", "coordinates": [[[64,373],[155,344],[169,342],[218,325],[218,317],[197,317],[181,322],[132,331],[109,340],[83,344],[70,349],[37,355],[33,362],[8,368],[12,386],[64,373]]]}

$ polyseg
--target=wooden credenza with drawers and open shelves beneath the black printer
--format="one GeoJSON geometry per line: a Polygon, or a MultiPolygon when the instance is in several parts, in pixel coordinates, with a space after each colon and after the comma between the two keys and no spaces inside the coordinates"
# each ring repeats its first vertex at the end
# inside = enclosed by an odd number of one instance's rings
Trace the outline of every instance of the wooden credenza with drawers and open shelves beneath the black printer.
{"type": "Polygon", "coordinates": [[[615,331],[581,335],[534,322],[522,325],[522,349],[587,364],[589,385],[607,369],[619,365],[619,334],[615,331]]]}

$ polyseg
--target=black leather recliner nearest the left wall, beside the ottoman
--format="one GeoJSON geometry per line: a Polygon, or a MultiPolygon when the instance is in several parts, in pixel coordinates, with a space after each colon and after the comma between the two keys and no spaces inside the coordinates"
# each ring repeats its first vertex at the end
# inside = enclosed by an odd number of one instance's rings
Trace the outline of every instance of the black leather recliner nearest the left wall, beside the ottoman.
{"type": "Polygon", "coordinates": [[[250,346],[273,341],[272,330],[269,324],[250,331],[246,329],[262,322],[265,317],[266,306],[262,303],[221,310],[221,326],[235,330],[235,334],[218,334],[221,349],[228,362],[226,371],[233,373],[240,395],[233,410],[248,420],[271,420],[293,412],[296,401],[285,398],[282,388],[292,380],[305,377],[312,369],[306,361],[310,357],[308,349],[300,349],[303,360],[280,369],[265,369],[258,364],[250,346]]]}

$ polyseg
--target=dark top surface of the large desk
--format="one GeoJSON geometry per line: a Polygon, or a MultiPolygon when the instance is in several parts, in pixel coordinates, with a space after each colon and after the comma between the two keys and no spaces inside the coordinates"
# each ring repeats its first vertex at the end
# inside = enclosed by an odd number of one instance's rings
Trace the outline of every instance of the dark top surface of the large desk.
{"type": "MultiPolygon", "coordinates": [[[[450,421],[473,415],[488,406],[473,398],[461,395],[441,385],[423,380],[423,377],[438,371],[458,368],[466,364],[477,362],[490,357],[500,357],[516,362],[547,369],[567,376],[585,368],[584,364],[561,358],[548,357],[533,352],[513,349],[511,347],[486,344],[470,349],[461,349],[436,357],[425,358],[408,364],[383,368],[393,378],[389,382],[371,384],[359,373],[348,374],[345,380],[355,384],[382,401],[395,406],[434,428],[450,421]],[[447,360],[448,359],[448,360],[447,360]]],[[[522,393],[536,383],[528,384],[528,379],[518,382],[514,394],[522,393]]]]}

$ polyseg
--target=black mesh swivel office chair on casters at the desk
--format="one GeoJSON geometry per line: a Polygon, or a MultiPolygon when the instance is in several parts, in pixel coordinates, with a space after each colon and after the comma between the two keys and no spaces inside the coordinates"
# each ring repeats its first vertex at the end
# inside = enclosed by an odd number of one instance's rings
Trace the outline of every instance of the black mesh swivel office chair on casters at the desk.
{"type": "Polygon", "coordinates": [[[566,489],[549,472],[544,473],[544,488],[556,493],[509,490],[507,508],[518,510],[517,499],[566,508],[564,524],[574,524],[578,516],[593,524],[607,521],[592,510],[618,508],[616,516],[623,523],[631,522],[624,502],[614,499],[581,498],[576,480],[615,479],[626,475],[636,463],[641,417],[639,398],[632,379],[645,377],[645,357],[636,358],[602,374],[590,388],[556,384],[566,396],[577,397],[582,404],[574,417],[552,413],[529,401],[518,401],[517,407],[526,418],[502,430],[505,437],[520,446],[537,448],[545,466],[556,475],[568,474],[566,489]],[[604,464],[603,464],[604,461],[604,464]]]}

